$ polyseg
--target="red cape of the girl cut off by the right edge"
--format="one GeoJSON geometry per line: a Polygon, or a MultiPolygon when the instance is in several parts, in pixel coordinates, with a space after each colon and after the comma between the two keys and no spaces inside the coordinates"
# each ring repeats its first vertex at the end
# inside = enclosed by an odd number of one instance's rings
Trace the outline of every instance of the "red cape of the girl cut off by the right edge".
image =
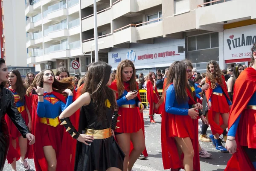
{"type": "MultiPolygon", "coordinates": [[[[230,110],[228,128],[233,125],[233,123],[240,115],[241,118],[236,132],[237,150],[236,153],[233,154],[231,159],[227,162],[225,171],[256,171],[250,159],[247,157],[247,154],[239,144],[239,140],[241,141],[241,133],[244,130],[244,128],[242,128],[241,121],[248,119],[248,122],[255,122],[256,120],[255,116],[252,116],[252,118],[244,117],[246,106],[254,93],[256,93],[256,70],[254,70],[252,67],[249,67],[241,72],[234,85],[233,105],[230,110]]],[[[254,124],[253,128],[249,129],[255,130],[256,125],[254,124]]],[[[255,142],[255,136],[250,136],[248,134],[248,144],[252,143],[253,141],[255,142]]]]}

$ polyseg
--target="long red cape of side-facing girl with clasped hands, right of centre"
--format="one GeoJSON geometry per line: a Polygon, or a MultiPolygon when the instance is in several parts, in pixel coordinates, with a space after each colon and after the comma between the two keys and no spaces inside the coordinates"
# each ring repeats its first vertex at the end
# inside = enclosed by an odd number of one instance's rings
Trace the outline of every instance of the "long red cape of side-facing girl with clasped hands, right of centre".
{"type": "MultiPolygon", "coordinates": [[[[166,81],[164,81],[164,89],[165,89],[166,81]]],[[[171,84],[169,84],[166,89],[171,84]]],[[[164,90],[163,90],[164,92],[164,90]]],[[[187,94],[189,97],[189,104],[195,104],[194,99],[192,98],[190,91],[187,89],[187,94]]],[[[168,137],[168,129],[169,128],[169,113],[165,111],[165,104],[166,104],[166,97],[165,93],[162,95],[164,97],[163,104],[161,104],[162,109],[162,125],[161,125],[161,142],[162,142],[162,159],[163,159],[163,168],[169,169],[169,168],[184,168],[183,167],[183,155],[181,158],[179,157],[177,148],[175,148],[176,142],[173,137],[168,137]]],[[[192,139],[192,145],[193,149],[195,151],[195,156],[193,159],[194,163],[194,170],[200,171],[200,160],[198,154],[198,124],[196,125],[196,121],[198,123],[198,119],[193,120],[193,128],[194,128],[194,139],[192,139]]]]}

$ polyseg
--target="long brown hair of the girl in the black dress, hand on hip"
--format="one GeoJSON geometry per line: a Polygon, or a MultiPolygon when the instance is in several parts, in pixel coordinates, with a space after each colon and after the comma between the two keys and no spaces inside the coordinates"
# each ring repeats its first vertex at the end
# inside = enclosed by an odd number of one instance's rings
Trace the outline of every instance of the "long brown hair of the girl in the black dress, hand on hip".
{"type": "Polygon", "coordinates": [[[81,89],[81,94],[90,93],[93,103],[96,104],[94,111],[100,117],[107,109],[105,105],[107,99],[111,103],[111,109],[117,108],[114,91],[107,86],[111,70],[112,67],[106,62],[92,63],[86,73],[84,87],[81,89]]]}

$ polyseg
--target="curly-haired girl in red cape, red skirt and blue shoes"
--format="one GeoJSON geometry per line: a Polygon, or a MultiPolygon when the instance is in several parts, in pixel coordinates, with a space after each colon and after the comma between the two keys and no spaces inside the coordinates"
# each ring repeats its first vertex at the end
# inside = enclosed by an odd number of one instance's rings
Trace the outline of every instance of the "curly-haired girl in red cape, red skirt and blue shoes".
{"type": "Polygon", "coordinates": [[[209,138],[216,150],[228,153],[227,149],[222,146],[219,135],[227,129],[228,113],[232,103],[227,93],[225,78],[221,74],[218,63],[214,60],[207,64],[206,82],[210,85],[210,88],[206,91],[209,109],[208,120],[214,135],[210,135],[209,138]]]}

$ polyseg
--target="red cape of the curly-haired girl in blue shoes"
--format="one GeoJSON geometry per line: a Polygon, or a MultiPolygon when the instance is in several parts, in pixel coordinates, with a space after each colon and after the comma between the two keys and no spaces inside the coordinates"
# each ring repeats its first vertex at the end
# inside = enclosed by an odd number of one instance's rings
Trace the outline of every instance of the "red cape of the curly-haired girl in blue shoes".
{"type": "MultiPolygon", "coordinates": [[[[224,76],[222,75],[222,80],[223,80],[223,85],[221,85],[221,88],[222,88],[222,91],[224,92],[224,95],[229,99],[229,96],[228,96],[228,93],[227,93],[227,85],[225,84],[225,78],[224,76]]],[[[209,83],[209,87],[211,87],[211,82],[209,81],[209,79],[206,78],[206,82],[209,83]]],[[[207,102],[209,101],[211,95],[212,95],[212,88],[209,88],[208,90],[206,90],[205,92],[205,95],[206,95],[206,99],[207,99],[207,102]]],[[[230,99],[229,99],[230,100],[230,99]]],[[[216,134],[218,133],[219,135],[221,135],[223,133],[223,129],[220,127],[220,125],[223,124],[223,120],[222,118],[220,117],[220,124],[217,125],[214,121],[214,116],[213,116],[213,111],[212,111],[212,107],[210,110],[208,110],[208,114],[209,114],[209,124],[211,126],[211,130],[212,130],[212,134],[216,134]]]]}

